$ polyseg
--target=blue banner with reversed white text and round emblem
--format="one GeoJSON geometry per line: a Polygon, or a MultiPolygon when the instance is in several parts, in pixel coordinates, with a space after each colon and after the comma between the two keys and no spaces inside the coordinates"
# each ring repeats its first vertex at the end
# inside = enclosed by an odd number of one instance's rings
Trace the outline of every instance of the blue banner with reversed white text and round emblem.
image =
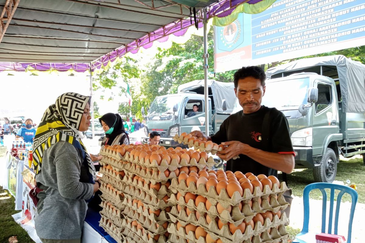
{"type": "Polygon", "coordinates": [[[215,72],[362,46],[365,0],[280,0],[214,27],[215,72]]]}

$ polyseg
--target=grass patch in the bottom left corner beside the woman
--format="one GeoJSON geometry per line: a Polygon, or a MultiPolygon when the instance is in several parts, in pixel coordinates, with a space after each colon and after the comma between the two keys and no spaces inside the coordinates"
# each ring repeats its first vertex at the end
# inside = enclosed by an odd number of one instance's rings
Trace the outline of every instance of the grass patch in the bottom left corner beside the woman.
{"type": "Polygon", "coordinates": [[[8,243],[11,236],[16,236],[18,242],[34,243],[28,233],[19,224],[17,224],[11,216],[20,212],[14,209],[14,201],[15,199],[9,191],[0,187],[0,242],[8,243]]]}

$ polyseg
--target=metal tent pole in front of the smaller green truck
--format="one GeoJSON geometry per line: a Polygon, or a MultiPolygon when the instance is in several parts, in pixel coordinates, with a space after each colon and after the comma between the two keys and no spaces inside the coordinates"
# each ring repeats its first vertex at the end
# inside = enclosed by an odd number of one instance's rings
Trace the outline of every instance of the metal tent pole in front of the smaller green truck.
{"type": "Polygon", "coordinates": [[[207,8],[203,9],[205,135],[209,136],[207,8]]]}

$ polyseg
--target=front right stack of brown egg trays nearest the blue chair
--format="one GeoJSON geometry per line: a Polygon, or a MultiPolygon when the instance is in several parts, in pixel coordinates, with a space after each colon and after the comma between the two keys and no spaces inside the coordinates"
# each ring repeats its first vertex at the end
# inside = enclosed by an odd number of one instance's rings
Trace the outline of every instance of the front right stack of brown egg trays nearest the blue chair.
{"type": "Polygon", "coordinates": [[[285,183],[219,170],[172,179],[170,243],[281,243],[288,234],[285,183]],[[247,178],[248,177],[248,178],[247,178]],[[260,180],[261,179],[261,180],[260,180]]]}

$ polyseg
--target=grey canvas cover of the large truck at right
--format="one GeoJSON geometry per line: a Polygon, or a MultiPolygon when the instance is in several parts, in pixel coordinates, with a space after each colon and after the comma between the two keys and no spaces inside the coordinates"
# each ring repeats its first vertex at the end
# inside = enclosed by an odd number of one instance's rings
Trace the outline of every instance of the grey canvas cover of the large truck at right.
{"type": "MultiPolygon", "coordinates": [[[[342,96],[342,111],[365,113],[365,65],[348,59],[343,55],[305,58],[272,67],[266,71],[266,78],[275,78],[277,75],[274,77],[273,75],[280,73],[284,73],[283,77],[285,77],[288,73],[292,74],[295,70],[297,72],[312,72],[311,67],[318,67],[316,70],[320,70],[320,68],[322,70],[332,70],[333,74],[333,71],[335,71],[333,66],[337,67],[336,76],[338,74],[342,96]]],[[[320,74],[320,71],[315,72],[320,74]]],[[[330,71],[328,71],[329,73],[330,71]]],[[[323,75],[335,77],[335,75],[326,75],[326,72],[323,72],[323,75]]]]}

